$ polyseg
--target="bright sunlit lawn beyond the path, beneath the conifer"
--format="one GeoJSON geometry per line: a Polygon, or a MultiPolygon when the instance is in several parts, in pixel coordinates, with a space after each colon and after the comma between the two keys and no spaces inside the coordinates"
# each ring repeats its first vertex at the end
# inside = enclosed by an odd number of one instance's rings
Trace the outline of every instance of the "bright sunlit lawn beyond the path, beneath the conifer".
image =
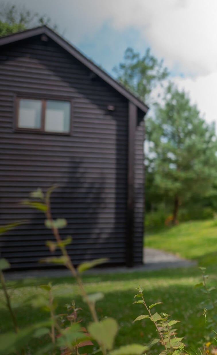
{"type": "Polygon", "coordinates": [[[217,222],[185,222],[147,233],[145,245],[197,260],[200,265],[217,264],[217,222]]]}

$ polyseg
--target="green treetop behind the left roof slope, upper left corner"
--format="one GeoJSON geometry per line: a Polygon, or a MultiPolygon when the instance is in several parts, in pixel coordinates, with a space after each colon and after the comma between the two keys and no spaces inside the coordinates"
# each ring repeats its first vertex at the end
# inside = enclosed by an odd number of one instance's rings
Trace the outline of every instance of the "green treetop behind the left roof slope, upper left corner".
{"type": "Polygon", "coordinates": [[[44,24],[49,24],[56,29],[56,25],[51,25],[51,20],[47,15],[40,16],[37,12],[27,10],[25,6],[19,8],[16,5],[1,4],[0,37],[44,24]]]}

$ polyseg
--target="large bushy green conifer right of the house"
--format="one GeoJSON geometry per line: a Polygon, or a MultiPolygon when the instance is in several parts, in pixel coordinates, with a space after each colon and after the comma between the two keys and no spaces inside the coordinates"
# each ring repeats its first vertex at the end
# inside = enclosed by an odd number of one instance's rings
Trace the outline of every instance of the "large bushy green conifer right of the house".
{"type": "Polygon", "coordinates": [[[145,163],[152,192],[173,203],[175,224],[181,203],[206,196],[217,181],[217,140],[215,125],[200,118],[184,91],[170,84],[164,100],[156,104],[154,119],[146,121],[145,163]]]}

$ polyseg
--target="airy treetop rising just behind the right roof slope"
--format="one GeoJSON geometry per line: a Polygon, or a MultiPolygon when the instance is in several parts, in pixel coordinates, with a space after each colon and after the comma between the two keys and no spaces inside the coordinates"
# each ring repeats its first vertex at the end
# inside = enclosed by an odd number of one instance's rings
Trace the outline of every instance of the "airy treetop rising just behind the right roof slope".
{"type": "Polygon", "coordinates": [[[150,100],[152,89],[169,75],[167,68],[163,67],[163,60],[158,61],[150,53],[150,48],[142,57],[132,48],[127,48],[124,62],[113,70],[117,80],[146,103],[150,100]]]}

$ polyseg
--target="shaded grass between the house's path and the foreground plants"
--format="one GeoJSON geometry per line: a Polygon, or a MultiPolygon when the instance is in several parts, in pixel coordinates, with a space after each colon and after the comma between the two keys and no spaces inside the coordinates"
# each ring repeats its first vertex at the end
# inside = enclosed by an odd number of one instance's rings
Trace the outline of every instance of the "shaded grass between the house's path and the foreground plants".
{"type": "MultiPolygon", "coordinates": [[[[207,273],[210,275],[210,285],[215,285],[216,267],[208,267],[207,273]]],[[[30,301],[27,302],[29,297],[46,295],[39,285],[48,283],[48,281],[50,279],[37,278],[7,282],[11,288],[11,301],[21,328],[49,317],[48,313],[39,311],[38,308],[32,307],[30,301]]],[[[82,307],[80,318],[84,324],[88,324],[91,321],[91,316],[74,280],[62,277],[53,278],[51,281],[53,294],[58,301],[56,312],[65,312],[64,305],[74,299],[77,306],[82,307]]],[[[194,288],[194,285],[200,282],[200,271],[196,267],[125,274],[87,275],[83,281],[88,293],[98,291],[104,293],[104,300],[98,301],[96,307],[99,319],[111,316],[118,321],[119,331],[115,339],[115,346],[130,343],[145,344],[150,338],[156,337],[153,323],[149,320],[132,324],[137,316],[146,314],[143,305],[132,304],[136,293],[135,287],[138,285],[144,288],[144,297],[148,305],[163,302],[162,305],[155,306],[153,312],[167,312],[171,319],[180,321],[177,326],[178,336],[184,337],[184,342],[189,350],[191,347],[196,349],[198,342],[204,337],[203,309],[199,307],[199,303],[206,298],[206,295],[194,288]]],[[[12,326],[3,300],[2,290],[0,290],[0,332],[9,331],[12,326]]],[[[212,313],[212,310],[207,311],[207,319],[212,313]]],[[[37,339],[29,345],[30,353],[32,349],[37,349],[46,343],[48,340],[46,337],[47,335],[42,337],[40,342],[37,339]]],[[[152,354],[155,354],[156,351],[158,349],[152,349],[152,354]]]]}

